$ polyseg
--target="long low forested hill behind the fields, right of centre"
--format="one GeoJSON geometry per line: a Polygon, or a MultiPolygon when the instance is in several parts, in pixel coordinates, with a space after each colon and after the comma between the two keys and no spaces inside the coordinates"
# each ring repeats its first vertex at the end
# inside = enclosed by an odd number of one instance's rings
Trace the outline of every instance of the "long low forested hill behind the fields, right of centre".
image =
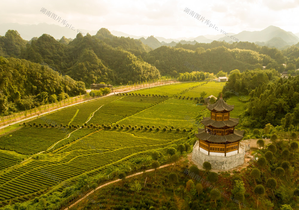
{"type": "Polygon", "coordinates": [[[184,62],[189,62],[199,70],[218,73],[220,70],[230,72],[234,69],[244,71],[255,69],[275,62],[270,56],[253,50],[228,49],[224,46],[212,49],[197,48],[188,50],[183,48],[162,46],[144,56],[144,60],[158,68],[161,74],[191,72],[184,62]]]}

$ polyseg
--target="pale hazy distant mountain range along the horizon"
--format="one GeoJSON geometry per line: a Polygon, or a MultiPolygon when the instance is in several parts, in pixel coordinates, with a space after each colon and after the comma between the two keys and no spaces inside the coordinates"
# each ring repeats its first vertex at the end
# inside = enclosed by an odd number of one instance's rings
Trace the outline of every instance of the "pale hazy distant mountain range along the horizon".
{"type": "MultiPolygon", "coordinates": [[[[61,27],[55,24],[46,24],[39,23],[37,25],[21,25],[18,23],[5,23],[0,24],[0,35],[4,36],[7,30],[17,30],[19,34],[25,40],[30,40],[33,37],[39,37],[42,34],[46,33],[53,36],[55,39],[61,39],[63,36],[72,40],[76,37],[77,31],[82,31],[83,35],[89,33],[90,35],[95,35],[97,31],[93,30],[85,30],[85,29],[76,29],[71,30],[66,27],[61,27]]],[[[261,31],[242,31],[237,34],[230,33],[229,37],[224,36],[222,34],[219,35],[200,35],[197,37],[180,37],[176,39],[166,39],[164,37],[155,37],[155,36],[135,36],[127,33],[123,33],[120,31],[111,31],[111,34],[115,36],[123,36],[130,37],[133,39],[139,39],[145,45],[156,49],[161,46],[176,46],[177,43],[181,44],[196,44],[199,43],[211,43],[214,40],[217,41],[225,41],[228,43],[232,43],[233,40],[230,38],[231,35],[239,39],[239,42],[254,42],[260,46],[267,47],[276,47],[279,49],[283,49],[289,47],[290,45],[297,44],[299,42],[299,33],[292,33],[289,31],[285,31],[276,26],[269,26],[261,31]]]]}

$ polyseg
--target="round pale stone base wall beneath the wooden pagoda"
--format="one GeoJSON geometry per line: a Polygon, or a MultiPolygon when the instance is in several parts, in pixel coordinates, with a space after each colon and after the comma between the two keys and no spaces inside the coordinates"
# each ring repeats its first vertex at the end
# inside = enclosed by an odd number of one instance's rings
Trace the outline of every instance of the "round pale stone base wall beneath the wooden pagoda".
{"type": "Polygon", "coordinates": [[[239,154],[224,157],[221,155],[207,155],[203,151],[199,151],[198,143],[199,141],[193,146],[192,161],[199,165],[203,165],[204,162],[209,162],[213,169],[229,170],[242,165],[245,161],[245,151],[241,147],[240,150],[242,152],[239,152],[239,154]]]}

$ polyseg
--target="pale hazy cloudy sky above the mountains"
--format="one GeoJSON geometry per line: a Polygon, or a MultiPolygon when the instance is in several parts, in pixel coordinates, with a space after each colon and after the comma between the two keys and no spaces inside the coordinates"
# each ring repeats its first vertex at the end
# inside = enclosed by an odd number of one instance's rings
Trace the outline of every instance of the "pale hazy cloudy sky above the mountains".
{"type": "MultiPolygon", "coordinates": [[[[196,37],[205,34],[262,30],[270,25],[299,32],[299,0],[10,0],[1,1],[0,23],[62,26],[40,12],[42,7],[65,19],[75,29],[117,30],[136,36],[165,38],[196,37]],[[213,25],[204,24],[187,13],[188,7],[213,25]]],[[[200,17],[200,18],[201,18],[200,17]]]]}

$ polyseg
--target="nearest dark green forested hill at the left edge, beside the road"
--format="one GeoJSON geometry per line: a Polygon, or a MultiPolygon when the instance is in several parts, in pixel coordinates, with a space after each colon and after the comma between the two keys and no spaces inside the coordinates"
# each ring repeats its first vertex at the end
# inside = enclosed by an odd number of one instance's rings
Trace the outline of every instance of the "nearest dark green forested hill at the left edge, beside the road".
{"type": "Polygon", "coordinates": [[[61,76],[45,65],[0,56],[0,114],[28,110],[85,93],[83,82],[61,76]]]}

